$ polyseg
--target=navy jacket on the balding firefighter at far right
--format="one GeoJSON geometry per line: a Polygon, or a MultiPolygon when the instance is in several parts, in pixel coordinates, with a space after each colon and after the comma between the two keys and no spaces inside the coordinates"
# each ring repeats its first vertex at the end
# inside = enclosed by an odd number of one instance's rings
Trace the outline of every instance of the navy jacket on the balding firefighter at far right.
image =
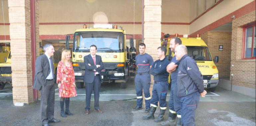
{"type": "Polygon", "coordinates": [[[180,97],[204,90],[203,77],[196,62],[187,54],[179,61],[177,78],[177,94],[180,97]]]}

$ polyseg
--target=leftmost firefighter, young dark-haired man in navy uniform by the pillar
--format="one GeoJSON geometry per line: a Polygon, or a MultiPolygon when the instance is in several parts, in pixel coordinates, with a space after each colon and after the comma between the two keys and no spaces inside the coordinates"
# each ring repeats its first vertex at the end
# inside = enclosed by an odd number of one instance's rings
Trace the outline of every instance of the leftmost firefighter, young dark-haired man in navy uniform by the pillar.
{"type": "Polygon", "coordinates": [[[135,89],[137,95],[137,105],[133,108],[133,111],[137,111],[142,109],[142,89],[144,91],[145,102],[146,102],[146,110],[145,112],[149,112],[150,107],[150,93],[149,88],[151,84],[151,77],[149,74],[149,69],[154,63],[152,56],[145,53],[146,45],[144,43],[139,44],[139,52],[140,54],[135,57],[136,65],[138,67],[137,74],[135,76],[135,89]]]}

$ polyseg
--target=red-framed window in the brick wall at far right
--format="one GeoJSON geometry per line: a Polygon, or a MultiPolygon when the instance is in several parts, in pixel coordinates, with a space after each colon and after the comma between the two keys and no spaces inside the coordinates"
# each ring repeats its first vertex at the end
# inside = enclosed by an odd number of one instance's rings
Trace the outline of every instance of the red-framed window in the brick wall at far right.
{"type": "Polygon", "coordinates": [[[243,30],[243,54],[242,59],[255,59],[256,56],[256,28],[255,25],[243,30]]]}

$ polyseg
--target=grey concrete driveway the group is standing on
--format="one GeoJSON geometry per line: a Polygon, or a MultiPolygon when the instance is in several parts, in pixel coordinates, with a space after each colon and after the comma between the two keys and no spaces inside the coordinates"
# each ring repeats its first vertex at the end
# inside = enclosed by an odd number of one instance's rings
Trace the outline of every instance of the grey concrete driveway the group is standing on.
{"type": "MultiPolygon", "coordinates": [[[[73,116],[60,116],[58,89],[56,88],[55,118],[61,122],[53,126],[156,126],[153,120],[143,120],[147,115],[144,109],[132,111],[136,105],[134,80],[129,79],[127,89],[120,89],[117,84],[102,84],[100,93],[100,108],[102,114],[93,110],[85,115],[85,89],[77,89],[78,96],[70,98],[70,111],[73,116]]],[[[40,122],[40,101],[22,107],[13,106],[11,86],[0,90],[0,126],[35,126],[40,122]],[[5,93],[5,94],[4,94],[5,93]],[[7,94],[9,93],[9,94],[7,94]]],[[[169,93],[169,92],[168,92],[169,93]]],[[[170,93],[169,93],[170,94],[170,93]]],[[[167,97],[169,99],[169,96],[167,97]]],[[[93,96],[92,96],[93,100],[93,96]]],[[[208,93],[200,98],[196,109],[196,125],[198,126],[255,126],[255,98],[239,93],[217,88],[214,93],[208,93]]],[[[159,108],[155,117],[159,114],[159,108]]],[[[165,120],[168,117],[166,111],[165,120]]]]}

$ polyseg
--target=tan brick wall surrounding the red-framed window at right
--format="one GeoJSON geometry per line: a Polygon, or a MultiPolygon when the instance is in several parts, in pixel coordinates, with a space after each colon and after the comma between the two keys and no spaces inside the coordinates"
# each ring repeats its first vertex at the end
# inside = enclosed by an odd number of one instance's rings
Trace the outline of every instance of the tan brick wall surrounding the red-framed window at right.
{"type": "MultiPolygon", "coordinates": [[[[232,21],[231,71],[233,85],[255,88],[255,59],[242,60],[243,25],[255,22],[255,10],[232,21]]],[[[231,79],[231,77],[230,77],[231,79]]]]}

